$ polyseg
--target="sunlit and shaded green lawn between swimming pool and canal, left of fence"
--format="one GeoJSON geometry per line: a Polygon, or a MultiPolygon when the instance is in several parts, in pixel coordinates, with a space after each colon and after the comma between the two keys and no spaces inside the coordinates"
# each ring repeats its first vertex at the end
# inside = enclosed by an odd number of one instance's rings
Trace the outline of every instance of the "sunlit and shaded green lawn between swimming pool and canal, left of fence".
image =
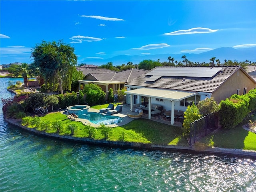
{"type": "MultiPolygon", "coordinates": [[[[73,124],[78,127],[78,129],[74,131],[73,136],[89,137],[89,131],[86,125],[81,122],[71,121],[66,115],[63,115],[60,112],[46,114],[41,117],[41,120],[49,121],[50,124],[59,120],[62,124],[60,135],[69,135],[70,130],[67,130],[67,126],[69,124],[73,124]]],[[[31,125],[28,127],[35,128],[35,126],[31,125]]],[[[96,140],[105,139],[104,134],[102,133],[102,128],[98,127],[96,130],[96,134],[93,138],[96,140]]],[[[46,132],[53,133],[55,130],[50,129],[46,132]]],[[[112,128],[107,140],[188,146],[187,140],[182,137],[180,127],[161,124],[145,119],[136,119],[124,126],[112,128]]]]}

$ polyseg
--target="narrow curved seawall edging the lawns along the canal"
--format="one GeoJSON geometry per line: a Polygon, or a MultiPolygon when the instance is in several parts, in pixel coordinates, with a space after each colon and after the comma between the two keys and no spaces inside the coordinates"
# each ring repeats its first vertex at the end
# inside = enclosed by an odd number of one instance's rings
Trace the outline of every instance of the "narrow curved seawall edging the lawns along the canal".
{"type": "Polygon", "coordinates": [[[216,147],[208,147],[204,150],[198,150],[194,146],[186,147],[186,146],[174,146],[174,145],[159,145],[159,144],[143,144],[143,143],[132,143],[132,142],[122,142],[122,141],[108,141],[108,140],[94,140],[91,138],[78,138],[68,135],[59,135],[54,133],[46,133],[42,131],[38,131],[33,128],[27,128],[26,126],[22,126],[20,122],[4,118],[6,122],[17,126],[18,128],[22,128],[29,132],[33,132],[34,134],[40,136],[47,136],[52,138],[57,138],[61,140],[69,140],[72,142],[82,142],[85,144],[93,144],[100,146],[109,146],[109,147],[120,147],[120,148],[134,148],[134,149],[144,149],[144,150],[178,150],[178,151],[188,151],[193,153],[204,153],[204,154],[218,154],[218,155],[229,155],[229,156],[240,156],[240,157],[250,157],[256,159],[256,151],[254,150],[242,150],[242,149],[228,149],[228,148],[216,148],[216,147]]]}

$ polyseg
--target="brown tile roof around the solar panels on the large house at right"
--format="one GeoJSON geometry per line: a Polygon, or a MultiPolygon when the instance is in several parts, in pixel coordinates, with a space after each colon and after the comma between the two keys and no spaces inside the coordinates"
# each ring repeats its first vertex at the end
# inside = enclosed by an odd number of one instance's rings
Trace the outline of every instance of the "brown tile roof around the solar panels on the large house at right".
{"type": "MultiPolygon", "coordinates": [[[[202,70],[204,73],[204,69],[211,68],[211,66],[181,66],[181,67],[170,67],[170,66],[161,66],[164,68],[197,68],[202,70]]],[[[159,67],[156,67],[159,68],[159,67]]],[[[154,68],[154,69],[156,69],[154,68]]],[[[214,68],[220,68],[219,72],[217,72],[214,76],[210,78],[205,77],[182,77],[182,76],[162,76],[155,81],[146,81],[150,76],[143,74],[138,78],[126,83],[126,85],[131,86],[143,86],[143,87],[152,87],[152,88],[166,88],[172,90],[184,90],[184,91],[196,91],[196,92],[214,92],[218,87],[220,87],[232,74],[241,69],[244,73],[246,73],[241,66],[214,66],[214,68]]],[[[149,72],[154,71],[154,69],[149,72]]],[[[148,73],[149,73],[148,72],[148,73]]],[[[247,74],[247,73],[246,73],[247,74]]],[[[247,74],[248,75],[248,74],[247,74]]],[[[248,75],[249,78],[251,78],[248,75]]],[[[251,78],[252,79],[252,78],[251,78]]]]}

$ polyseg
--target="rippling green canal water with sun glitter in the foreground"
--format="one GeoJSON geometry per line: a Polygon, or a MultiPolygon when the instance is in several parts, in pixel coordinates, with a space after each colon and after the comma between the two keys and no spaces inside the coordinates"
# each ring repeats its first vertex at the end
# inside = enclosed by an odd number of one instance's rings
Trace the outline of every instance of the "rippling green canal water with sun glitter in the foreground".
{"type": "Polygon", "coordinates": [[[44,138],[7,124],[0,107],[1,192],[256,191],[256,160],[44,138]]]}

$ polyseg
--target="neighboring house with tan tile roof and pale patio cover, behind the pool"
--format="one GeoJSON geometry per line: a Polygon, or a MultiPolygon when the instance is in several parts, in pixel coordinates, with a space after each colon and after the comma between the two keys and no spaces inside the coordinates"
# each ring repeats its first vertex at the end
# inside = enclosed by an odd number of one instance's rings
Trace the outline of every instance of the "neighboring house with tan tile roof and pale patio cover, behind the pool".
{"type": "Polygon", "coordinates": [[[103,91],[108,91],[112,88],[113,91],[124,88],[124,84],[128,81],[137,78],[138,76],[147,72],[147,70],[130,68],[123,71],[112,71],[112,70],[94,70],[88,73],[84,80],[79,80],[80,84],[94,83],[99,85],[103,91]],[[104,71],[105,70],[105,71],[104,71]]]}

